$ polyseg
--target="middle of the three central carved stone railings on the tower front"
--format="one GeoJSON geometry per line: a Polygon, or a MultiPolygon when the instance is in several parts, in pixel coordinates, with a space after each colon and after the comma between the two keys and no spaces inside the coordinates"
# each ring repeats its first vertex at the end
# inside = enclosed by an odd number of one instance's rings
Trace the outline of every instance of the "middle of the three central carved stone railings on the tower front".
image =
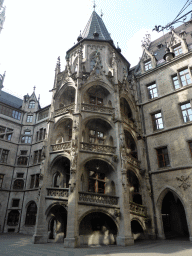
{"type": "Polygon", "coordinates": [[[97,152],[97,153],[107,153],[107,154],[115,154],[116,147],[108,146],[108,145],[100,145],[100,144],[91,144],[86,142],[81,142],[81,150],[97,152]]]}

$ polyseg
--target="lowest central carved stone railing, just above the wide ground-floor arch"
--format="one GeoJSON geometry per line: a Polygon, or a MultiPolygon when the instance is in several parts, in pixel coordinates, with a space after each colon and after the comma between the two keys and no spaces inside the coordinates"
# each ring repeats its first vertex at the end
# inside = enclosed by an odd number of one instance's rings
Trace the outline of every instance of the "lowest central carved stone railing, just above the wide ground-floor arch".
{"type": "Polygon", "coordinates": [[[79,192],[79,202],[113,206],[118,205],[118,197],[90,192],[79,192]]]}

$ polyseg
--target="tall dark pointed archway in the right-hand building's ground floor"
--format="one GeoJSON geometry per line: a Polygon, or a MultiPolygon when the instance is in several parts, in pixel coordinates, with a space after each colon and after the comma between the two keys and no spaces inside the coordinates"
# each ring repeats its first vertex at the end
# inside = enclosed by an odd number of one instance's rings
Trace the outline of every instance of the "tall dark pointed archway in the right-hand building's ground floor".
{"type": "Polygon", "coordinates": [[[163,199],[161,214],[164,234],[167,239],[189,237],[184,207],[180,199],[171,191],[163,199]]]}

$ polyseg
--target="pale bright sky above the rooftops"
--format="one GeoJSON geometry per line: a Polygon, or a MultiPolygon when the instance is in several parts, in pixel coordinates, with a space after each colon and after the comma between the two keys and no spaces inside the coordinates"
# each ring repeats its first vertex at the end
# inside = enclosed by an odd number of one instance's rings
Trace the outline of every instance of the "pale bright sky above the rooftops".
{"type": "MultiPolygon", "coordinates": [[[[186,0],[96,0],[96,12],[124,57],[135,66],[142,55],[146,32],[165,26],[179,13],[186,0]]],[[[65,68],[66,51],[77,42],[92,12],[92,0],[5,0],[6,19],[0,33],[0,74],[6,71],[3,90],[19,98],[33,87],[40,105],[51,103],[58,56],[65,68]]],[[[192,5],[186,11],[189,11],[192,5]]],[[[181,25],[178,24],[175,27],[181,25]]]]}

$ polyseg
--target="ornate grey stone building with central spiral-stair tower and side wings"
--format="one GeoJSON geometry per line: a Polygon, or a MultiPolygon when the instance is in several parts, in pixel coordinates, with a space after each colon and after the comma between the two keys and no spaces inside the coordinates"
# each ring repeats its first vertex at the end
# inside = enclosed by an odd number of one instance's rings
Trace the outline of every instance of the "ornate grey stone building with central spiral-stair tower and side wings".
{"type": "Polygon", "coordinates": [[[1,232],[65,247],[190,239],[191,35],[188,22],[148,36],[130,68],[93,11],[64,71],[58,58],[51,105],[1,92],[1,232]]]}

